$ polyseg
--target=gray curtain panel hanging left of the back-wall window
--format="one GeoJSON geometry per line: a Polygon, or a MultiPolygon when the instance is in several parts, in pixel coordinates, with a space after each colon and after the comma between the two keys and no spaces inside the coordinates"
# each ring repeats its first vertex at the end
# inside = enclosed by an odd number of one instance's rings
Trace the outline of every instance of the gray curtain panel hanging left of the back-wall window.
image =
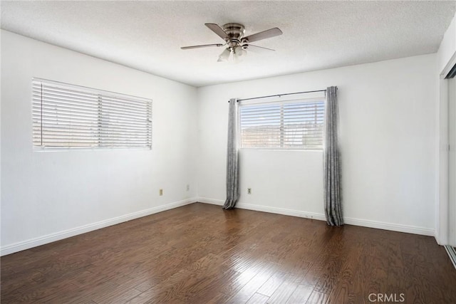
{"type": "Polygon", "coordinates": [[[229,100],[227,143],[227,200],[223,209],[233,209],[239,199],[239,168],[237,151],[237,99],[229,100]]]}

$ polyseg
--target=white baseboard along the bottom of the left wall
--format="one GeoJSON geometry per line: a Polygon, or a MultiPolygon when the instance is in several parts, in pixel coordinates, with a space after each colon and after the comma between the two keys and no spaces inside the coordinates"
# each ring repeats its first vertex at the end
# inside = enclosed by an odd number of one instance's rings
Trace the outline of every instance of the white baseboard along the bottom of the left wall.
{"type": "Polygon", "coordinates": [[[125,214],[125,215],[122,215],[122,216],[117,216],[117,217],[112,218],[112,219],[105,219],[103,221],[97,221],[95,223],[87,224],[87,225],[84,225],[84,226],[79,226],[79,227],[76,227],[76,228],[73,228],[73,229],[67,229],[67,230],[64,230],[64,231],[59,231],[59,232],[56,232],[54,234],[48,234],[46,236],[39,236],[38,238],[28,239],[26,241],[13,243],[11,245],[6,245],[6,246],[1,247],[0,256],[5,256],[6,254],[15,253],[15,252],[18,252],[18,251],[23,251],[23,250],[26,250],[28,248],[33,248],[33,247],[36,247],[36,246],[41,246],[41,245],[44,245],[46,243],[51,243],[53,241],[59,241],[59,240],[62,240],[62,239],[69,238],[71,236],[77,236],[78,234],[85,234],[86,232],[89,232],[89,231],[105,228],[105,227],[108,227],[108,226],[113,226],[115,224],[120,224],[120,223],[123,223],[124,221],[130,221],[132,219],[138,219],[138,218],[140,218],[142,216],[148,216],[150,214],[155,214],[155,213],[166,211],[166,210],[169,210],[169,209],[174,209],[174,208],[177,208],[177,207],[180,207],[180,206],[185,206],[185,205],[188,205],[188,204],[195,203],[196,201],[197,201],[196,198],[184,199],[182,201],[175,201],[175,202],[170,203],[170,204],[165,204],[165,205],[162,205],[162,206],[156,206],[156,207],[152,207],[150,209],[145,209],[145,210],[142,210],[142,211],[137,211],[137,212],[133,212],[133,213],[130,213],[130,214],[125,214]]]}

